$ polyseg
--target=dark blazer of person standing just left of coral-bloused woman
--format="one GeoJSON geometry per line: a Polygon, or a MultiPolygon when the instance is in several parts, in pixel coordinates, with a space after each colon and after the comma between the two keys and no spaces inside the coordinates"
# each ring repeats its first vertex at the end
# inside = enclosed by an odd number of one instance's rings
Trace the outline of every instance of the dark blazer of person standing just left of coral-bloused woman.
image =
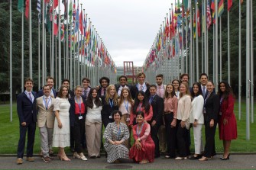
{"type": "Polygon", "coordinates": [[[164,99],[160,98],[159,95],[155,95],[153,101],[151,101],[151,106],[153,108],[153,117],[149,123],[151,124],[153,120],[156,120],[157,126],[160,126],[163,123],[164,99]]]}

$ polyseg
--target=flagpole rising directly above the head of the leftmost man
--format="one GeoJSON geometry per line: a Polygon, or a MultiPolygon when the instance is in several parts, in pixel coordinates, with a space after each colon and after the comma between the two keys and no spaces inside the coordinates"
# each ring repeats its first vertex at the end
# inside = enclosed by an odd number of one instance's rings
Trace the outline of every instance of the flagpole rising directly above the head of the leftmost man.
{"type": "Polygon", "coordinates": [[[32,14],[31,1],[29,1],[29,77],[33,79],[32,75],[32,14]]]}

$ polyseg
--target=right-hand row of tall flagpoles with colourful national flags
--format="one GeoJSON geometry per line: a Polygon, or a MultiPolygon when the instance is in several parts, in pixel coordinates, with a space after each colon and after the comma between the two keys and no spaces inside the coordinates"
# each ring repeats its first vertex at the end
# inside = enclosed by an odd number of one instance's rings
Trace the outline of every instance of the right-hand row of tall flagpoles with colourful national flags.
{"type": "MultiPolygon", "coordinates": [[[[182,73],[189,73],[190,85],[193,82],[199,81],[199,37],[202,37],[202,67],[201,72],[212,72],[212,79],[215,85],[222,81],[222,13],[224,11],[224,1],[216,0],[202,1],[202,15],[199,14],[198,2],[195,1],[195,8],[191,10],[193,3],[191,0],[183,0],[182,11],[180,11],[180,2],[175,2],[175,11],[173,4],[171,4],[170,18],[164,19],[163,24],[154,43],[147,54],[144,61],[144,72],[147,75],[149,82],[154,82],[155,74],[164,74],[164,82],[169,83],[173,79],[178,79],[182,73]],[[212,14],[211,14],[212,11],[212,14]],[[174,12],[174,14],[173,14],[174,12]],[[199,24],[200,17],[202,16],[202,29],[199,24]],[[185,21],[183,21],[183,17],[185,21]],[[190,19],[188,26],[187,22],[190,19]],[[169,25],[170,22],[170,25],[169,25]],[[193,22],[193,26],[192,26],[193,22]],[[212,24],[213,23],[213,24],[212,24]],[[185,27],[184,27],[185,24],[185,27]],[[209,70],[209,27],[213,27],[213,57],[212,57],[212,70],[209,70]],[[184,28],[185,39],[184,39],[184,28]],[[202,35],[200,35],[201,31],[202,35]],[[190,33],[190,36],[189,34],[190,33]],[[183,47],[183,40],[185,40],[185,49],[183,47]]],[[[228,0],[227,11],[227,30],[228,30],[228,57],[227,57],[227,82],[231,84],[230,75],[230,26],[229,26],[229,13],[232,7],[232,0],[228,0]]],[[[238,63],[238,120],[241,120],[241,5],[239,3],[239,63],[238,63]]],[[[252,0],[246,1],[246,139],[250,139],[250,120],[254,123],[254,72],[253,72],[253,24],[252,24],[252,0]],[[251,102],[250,102],[251,101],[251,102]],[[251,109],[251,110],[250,110],[251,109]],[[251,117],[250,117],[251,112],[251,117]]],[[[216,92],[218,89],[216,88],[216,92]]]]}

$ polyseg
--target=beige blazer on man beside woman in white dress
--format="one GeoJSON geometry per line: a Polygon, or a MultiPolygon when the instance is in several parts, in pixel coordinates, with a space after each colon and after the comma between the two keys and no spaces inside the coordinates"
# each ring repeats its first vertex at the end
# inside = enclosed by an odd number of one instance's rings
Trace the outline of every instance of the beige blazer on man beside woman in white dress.
{"type": "Polygon", "coordinates": [[[46,110],[43,104],[43,97],[37,98],[37,125],[38,127],[44,127],[47,125],[47,128],[54,127],[54,112],[53,112],[53,104],[55,103],[55,98],[51,98],[51,104],[46,110]]]}

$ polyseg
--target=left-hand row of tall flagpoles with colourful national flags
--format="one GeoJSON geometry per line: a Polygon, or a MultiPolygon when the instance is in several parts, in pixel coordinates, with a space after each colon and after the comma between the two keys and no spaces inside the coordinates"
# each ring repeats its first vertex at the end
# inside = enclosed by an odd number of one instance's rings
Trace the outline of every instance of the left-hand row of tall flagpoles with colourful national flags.
{"type": "MultiPolygon", "coordinates": [[[[25,17],[28,18],[29,23],[29,77],[38,79],[38,90],[44,85],[45,79],[49,75],[55,78],[55,88],[57,89],[60,87],[62,79],[70,79],[70,88],[74,88],[76,85],[81,85],[83,77],[91,79],[92,87],[99,85],[98,81],[102,76],[109,77],[110,82],[112,83],[116,81],[115,63],[102,39],[99,37],[96,28],[92,25],[92,21],[90,21],[90,18],[87,18],[87,14],[85,14],[85,9],[83,9],[82,4],[80,4],[81,11],[79,12],[79,0],[62,1],[65,8],[63,12],[64,18],[62,18],[63,15],[61,15],[60,0],[33,1],[33,3],[37,3],[38,11],[38,75],[34,74],[36,71],[32,69],[33,39],[31,2],[31,0],[25,0],[26,11],[24,12],[24,0],[18,0],[18,11],[21,11],[22,18],[21,91],[24,89],[24,69],[27,69],[27,67],[24,68],[24,13],[25,17]],[[49,11],[49,9],[52,11],[49,11]],[[47,32],[50,34],[50,38],[47,38],[47,32]],[[47,68],[47,66],[50,66],[50,69],[47,68]]],[[[12,121],[11,22],[10,1],[9,87],[10,120],[12,121]]]]}

